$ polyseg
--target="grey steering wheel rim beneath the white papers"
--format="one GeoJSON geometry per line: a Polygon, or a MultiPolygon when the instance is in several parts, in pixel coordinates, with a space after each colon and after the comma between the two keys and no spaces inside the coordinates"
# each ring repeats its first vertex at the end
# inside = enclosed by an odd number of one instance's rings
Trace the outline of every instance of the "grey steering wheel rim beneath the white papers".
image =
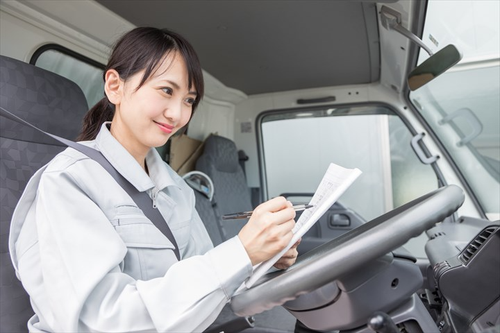
{"type": "Polygon", "coordinates": [[[253,316],[323,287],[417,237],[464,200],[456,185],[431,191],[301,255],[285,271],[264,275],[233,296],[231,308],[238,316],[253,316]]]}

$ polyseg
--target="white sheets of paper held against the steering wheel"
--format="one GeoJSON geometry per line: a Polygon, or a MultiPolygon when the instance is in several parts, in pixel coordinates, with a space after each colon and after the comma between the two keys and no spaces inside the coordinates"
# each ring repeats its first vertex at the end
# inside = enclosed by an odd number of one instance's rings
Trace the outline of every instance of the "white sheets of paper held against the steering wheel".
{"type": "MultiPolygon", "coordinates": [[[[305,234],[316,221],[340,198],[346,189],[360,176],[359,169],[346,169],[331,163],[326,170],[321,183],[319,184],[313,198],[310,200],[310,205],[314,207],[304,210],[299,217],[299,221],[295,224],[292,232],[294,235],[292,240],[280,253],[271,259],[253,266],[253,274],[244,282],[245,287],[250,288],[253,284],[263,276],[269,268],[280,259],[286,251],[288,251],[302,236],[305,234]]],[[[240,288],[241,289],[241,288],[240,288]]]]}

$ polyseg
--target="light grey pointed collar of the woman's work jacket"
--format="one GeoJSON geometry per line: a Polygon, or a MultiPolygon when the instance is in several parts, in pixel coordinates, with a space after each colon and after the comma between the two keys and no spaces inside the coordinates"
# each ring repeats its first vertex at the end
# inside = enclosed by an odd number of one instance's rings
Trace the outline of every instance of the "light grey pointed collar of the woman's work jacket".
{"type": "Polygon", "coordinates": [[[156,187],[165,189],[168,186],[176,186],[176,181],[172,178],[174,171],[161,159],[155,148],[150,148],[146,155],[148,174],[140,167],[139,163],[128,151],[111,135],[108,125],[110,121],[103,123],[95,142],[106,160],[126,178],[138,191],[146,191],[156,187]]]}

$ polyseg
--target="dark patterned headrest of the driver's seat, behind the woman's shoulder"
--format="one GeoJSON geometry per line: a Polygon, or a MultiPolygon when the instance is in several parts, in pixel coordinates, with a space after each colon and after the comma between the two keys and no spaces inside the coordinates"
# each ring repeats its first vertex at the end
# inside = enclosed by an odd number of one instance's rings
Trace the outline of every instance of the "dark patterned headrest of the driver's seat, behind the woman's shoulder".
{"type": "MultiPolygon", "coordinates": [[[[6,56],[0,56],[0,105],[41,130],[70,140],[80,133],[88,111],[85,95],[76,83],[6,56]]],[[[4,117],[0,133],[8,139],[57,144],[50,137],[4,117]]]]}

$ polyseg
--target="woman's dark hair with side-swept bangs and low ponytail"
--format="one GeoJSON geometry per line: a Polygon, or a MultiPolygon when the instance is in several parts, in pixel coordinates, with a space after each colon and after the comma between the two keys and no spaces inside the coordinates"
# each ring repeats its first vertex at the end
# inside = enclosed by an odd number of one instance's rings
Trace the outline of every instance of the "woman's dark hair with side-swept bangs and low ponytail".
{"type": "MultiPolygon", "coordinates": [[[[197,97],[192,105],[192,114],[194,114],[194,110],[203,97],[201,65],[191,44],[181,35],[167,29],[140,27],[123,35],[113,47],[108,65],[103,71],[103,79],[109,69],[115,69],[124,81],[144,70],[144,76],[136,87],[139,89],[153,74],[159,62],[172,52],[178,52],[183,56],[188,67],[188,86],[196,89],[197,97]]],[[[108,97],[105,96],[85,114],[82,130],[77,140],[95,139],[102,123],[111,121],[114,114],[115,105],[110,103],[108,97]]]]}

